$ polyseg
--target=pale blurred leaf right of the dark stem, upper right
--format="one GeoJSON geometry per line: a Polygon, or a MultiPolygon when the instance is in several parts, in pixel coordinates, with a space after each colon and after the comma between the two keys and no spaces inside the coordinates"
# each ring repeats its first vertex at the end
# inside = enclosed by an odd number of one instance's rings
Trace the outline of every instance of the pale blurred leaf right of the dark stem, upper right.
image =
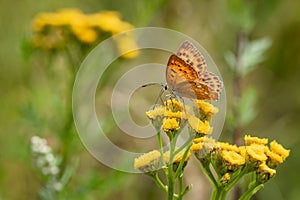
{"type": "Polygon", "coordinates": [[[259,63],[265,60],[264,53],[271,46],[269,38],[254,40],[246,44],[241,56],[241,75],[247,75],[255,69],[259,63]]]}

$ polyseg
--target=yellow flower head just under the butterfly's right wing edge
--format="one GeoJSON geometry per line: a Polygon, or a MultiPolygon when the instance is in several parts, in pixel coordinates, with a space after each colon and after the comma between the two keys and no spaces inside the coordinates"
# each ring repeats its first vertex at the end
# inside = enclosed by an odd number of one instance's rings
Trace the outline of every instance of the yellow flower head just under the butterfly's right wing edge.
{"type": "Polygon", "coordinates": [[[216,113],[219,112],[219,109],[203,100],[196,100],[194,101],[194,111],[197,116],[199,115],[198,117],[202,121],[209,121],[216,113]]]}

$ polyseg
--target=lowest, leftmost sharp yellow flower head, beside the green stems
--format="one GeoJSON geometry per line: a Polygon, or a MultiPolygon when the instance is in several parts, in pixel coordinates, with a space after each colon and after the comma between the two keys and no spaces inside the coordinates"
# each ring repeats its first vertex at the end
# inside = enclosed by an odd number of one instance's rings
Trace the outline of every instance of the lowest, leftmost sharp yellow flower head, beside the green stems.
{"type": "Polygon", "coordinates": [[[158,168],[160,152],[157,150],[150,151],[134,159],[134,168],[142,172],[155,171],[158,168]]]}

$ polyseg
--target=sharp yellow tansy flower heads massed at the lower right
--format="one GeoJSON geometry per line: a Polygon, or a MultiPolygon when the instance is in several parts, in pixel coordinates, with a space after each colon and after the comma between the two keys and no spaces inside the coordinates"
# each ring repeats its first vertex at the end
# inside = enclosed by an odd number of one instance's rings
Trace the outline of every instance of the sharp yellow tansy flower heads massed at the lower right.
{"type": "Polygon", "coordinates": [[[205,167],[212,164],[220,185],[230,185],[231,180],[237,181],[251,172],[256,173],[257,182],[265,183],[276,174],[275,168],[289,156],[290,150],[276,141],[267,146],[267,138],[246,135],[244,140],[245,146],[237,147],[203,137],[195,139],[191,149],[205,167]]]}

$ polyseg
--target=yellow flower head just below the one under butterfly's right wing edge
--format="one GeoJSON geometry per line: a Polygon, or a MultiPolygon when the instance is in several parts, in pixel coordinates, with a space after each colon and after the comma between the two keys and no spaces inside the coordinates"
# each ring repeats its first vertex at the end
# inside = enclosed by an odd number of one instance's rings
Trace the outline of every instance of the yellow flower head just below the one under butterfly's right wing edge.
{"type": "Polygon", "coordinates": [[[188,118],[189,125],[193,131],[195,131],[199,136],[211,134],[212,127],[210,127],[208,121],[201,121],[194,115],[189,116],[188,118]]]}

